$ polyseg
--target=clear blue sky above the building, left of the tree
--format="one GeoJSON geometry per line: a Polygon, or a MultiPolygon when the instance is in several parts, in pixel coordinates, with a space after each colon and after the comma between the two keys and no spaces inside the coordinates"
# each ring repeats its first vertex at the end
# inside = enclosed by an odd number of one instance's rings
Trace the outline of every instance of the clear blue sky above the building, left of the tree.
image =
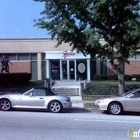
{"type": "Polygon", "coordinates": [[[33,0],[0,0],[0,38],[50,37],[45,29],[34,26],[41,17],[43,2],[33,0]]]}

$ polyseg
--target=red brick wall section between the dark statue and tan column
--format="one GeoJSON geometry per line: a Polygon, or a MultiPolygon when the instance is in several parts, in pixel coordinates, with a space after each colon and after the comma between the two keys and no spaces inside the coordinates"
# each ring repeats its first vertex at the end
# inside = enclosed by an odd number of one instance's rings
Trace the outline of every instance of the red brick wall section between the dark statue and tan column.
{"type": "Polygon", "coordinates": [[[27,72],[30,73],[30,62],[12,62],[13,65],[9,63],[10,73],[27,72]]]}

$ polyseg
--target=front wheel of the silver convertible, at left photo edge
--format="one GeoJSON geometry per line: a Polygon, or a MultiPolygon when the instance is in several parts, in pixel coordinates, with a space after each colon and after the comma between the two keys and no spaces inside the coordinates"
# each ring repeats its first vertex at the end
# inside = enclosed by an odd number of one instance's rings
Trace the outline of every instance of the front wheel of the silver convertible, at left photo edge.
{"type": "Polygon", "coordinates": [[[11,102],[7,99],[2,99],[0,101],[0,109],[3,111],[8,111],[11,109],[11,102]]]}

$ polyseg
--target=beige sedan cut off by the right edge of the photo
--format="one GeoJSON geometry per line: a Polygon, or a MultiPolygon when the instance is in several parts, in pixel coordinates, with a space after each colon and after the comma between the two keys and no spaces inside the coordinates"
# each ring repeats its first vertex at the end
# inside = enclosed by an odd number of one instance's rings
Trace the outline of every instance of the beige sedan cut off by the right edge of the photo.
{"type": "Polygon", "coordinates": [[[140,89],[131,90],[118,97],[98,99],[93,105],[113,115],[119,115],[123,111],[140,112],[140,89]]]}

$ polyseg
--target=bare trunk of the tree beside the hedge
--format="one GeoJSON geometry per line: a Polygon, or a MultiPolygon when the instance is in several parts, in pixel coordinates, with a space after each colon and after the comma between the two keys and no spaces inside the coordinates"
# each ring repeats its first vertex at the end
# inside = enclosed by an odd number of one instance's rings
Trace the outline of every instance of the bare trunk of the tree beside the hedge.
{"type": "Polygon", "coordinates": [[[119,60],[119,72],[118,72],[119,94],[123,94],[125,92],[124,70],[125,70],[125,61],[121,59],[119,60]]]}

